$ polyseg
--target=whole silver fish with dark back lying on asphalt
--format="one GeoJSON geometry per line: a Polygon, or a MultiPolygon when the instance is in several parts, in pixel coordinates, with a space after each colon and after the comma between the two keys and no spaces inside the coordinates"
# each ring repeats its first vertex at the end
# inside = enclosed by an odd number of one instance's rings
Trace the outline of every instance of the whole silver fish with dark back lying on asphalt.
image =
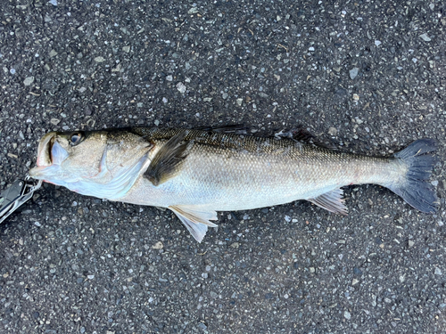
{"type": "Polygon", "coordinates": [[[99,199],[169,208],[201,242],[218,211],[308,200],[346,215],[343,187],[373,183],[433,214],[428,179],[436,142],[424,138],[390,157],[331,150],[310,136],[261,137],[221,128],[134,127],[50,132],[29,175],[99,199]]]}

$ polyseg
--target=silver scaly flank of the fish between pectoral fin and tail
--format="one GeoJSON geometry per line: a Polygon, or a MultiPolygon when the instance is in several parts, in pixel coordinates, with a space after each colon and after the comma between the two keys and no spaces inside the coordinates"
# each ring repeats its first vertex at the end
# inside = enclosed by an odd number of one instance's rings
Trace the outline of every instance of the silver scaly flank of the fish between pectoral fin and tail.
{"type": "MultiPolygon", "coordinates": [[[[217,211],[262,208],[315,198],[349,183],[376,183],[376,178],[386,183],[395,169],[398,172],[399,165],[388,159],[330,154],[302,143],[288,143],[293,145],[291,150],[277,153],[275,146],[286,146],[276,142],[268,151],[254,150],[252,145],[249,145],[252,151],[233,151],[194,143],[175,178],[158,187],[145,182],[137,184],[135,191],[129,191],[120,200],[136,201],[140,191],[144,191],[156,198],[157,206],[172,201],[181,205],[210,205],[217,211]],[[378,169],[381,175],[377,175],[378,169]]],[[[162,143],[155,142],[158,145],[162,143]]]]}

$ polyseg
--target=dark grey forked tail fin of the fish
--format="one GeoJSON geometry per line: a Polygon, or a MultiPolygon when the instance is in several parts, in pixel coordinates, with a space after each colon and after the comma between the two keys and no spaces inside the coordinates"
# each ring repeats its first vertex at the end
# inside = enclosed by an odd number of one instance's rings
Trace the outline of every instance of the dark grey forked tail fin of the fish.
{"type": "Polygon", "coordinates": [[[425,138],[395,153],[394,157],[403,160],[409,169],[400,183],[389,187],[412,207],[427,214],[434,214],[436,210],[437,197],[434,188],[427,183],[435,163],[434,151],[436,151],[434,139],[425,138]]]}

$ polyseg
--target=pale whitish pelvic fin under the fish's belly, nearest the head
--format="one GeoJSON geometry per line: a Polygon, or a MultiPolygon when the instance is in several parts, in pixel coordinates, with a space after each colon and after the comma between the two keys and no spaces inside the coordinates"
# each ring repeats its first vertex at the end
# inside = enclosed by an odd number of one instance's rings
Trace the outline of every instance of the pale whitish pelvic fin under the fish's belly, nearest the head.
{"type": "Polygon", "coordinates": [[[210,220],[218,219],[217,212],[213,210],[200,206],[170,206],[169,209],[175,212],[198,242],[202,242],[202,238],[208,231],[208,226],[217,227],[216,224],[210,222],[210,220]]]}

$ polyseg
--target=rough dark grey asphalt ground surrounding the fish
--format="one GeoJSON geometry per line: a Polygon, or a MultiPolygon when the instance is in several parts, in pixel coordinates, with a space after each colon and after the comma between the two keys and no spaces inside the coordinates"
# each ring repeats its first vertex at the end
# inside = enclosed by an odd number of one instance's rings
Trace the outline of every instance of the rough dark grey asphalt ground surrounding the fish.
{"type": "Polygon", "coordinates": [[[45,184],[0,225],[2,333],[446,331],[442,1],[4,1],[0,188],[49,130],[298,124],[344,151],[435,138],[436,215],[372,185],[221,213],[198,244],[169,211],[45,184]]]}

